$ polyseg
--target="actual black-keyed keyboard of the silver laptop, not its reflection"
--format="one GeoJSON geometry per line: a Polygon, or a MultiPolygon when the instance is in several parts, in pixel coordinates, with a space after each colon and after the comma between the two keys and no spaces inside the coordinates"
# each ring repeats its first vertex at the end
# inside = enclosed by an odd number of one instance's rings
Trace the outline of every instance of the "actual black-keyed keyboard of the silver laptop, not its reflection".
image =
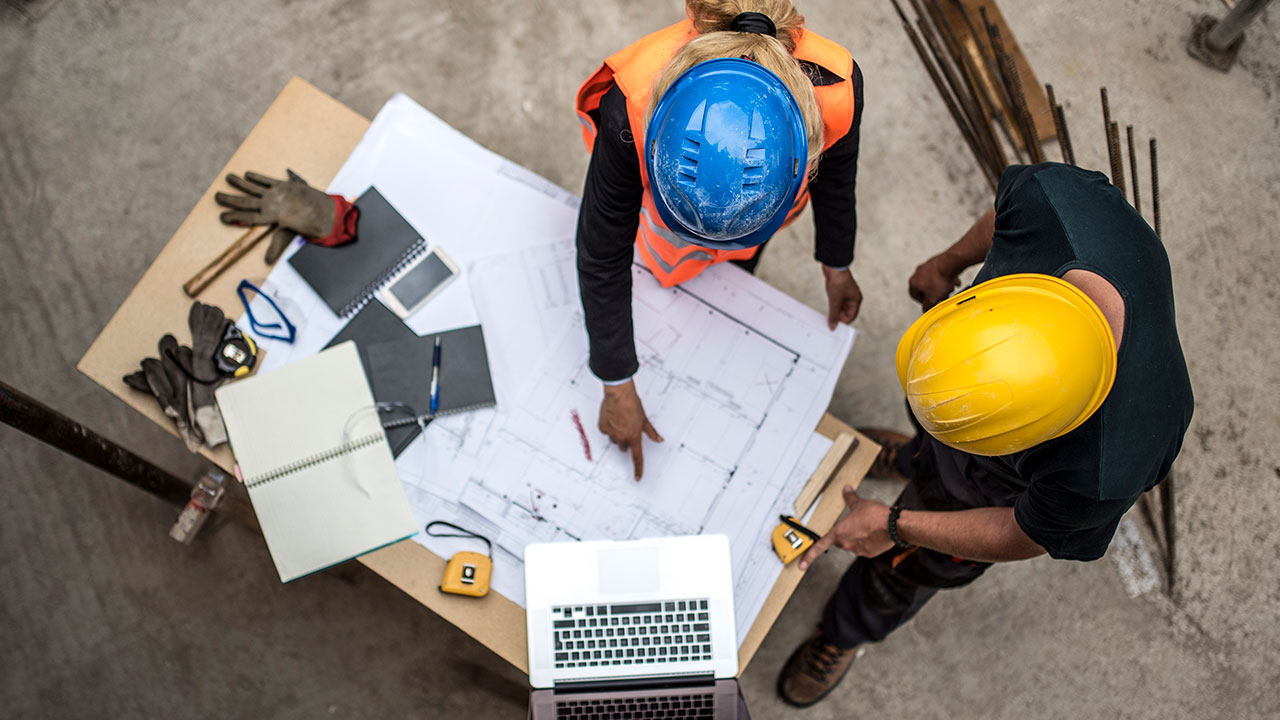
{"type": "Polygon", "coordinates": [[[712,659],[705,598],[552,607],[552,629],[557,669],[712,659]]]}

